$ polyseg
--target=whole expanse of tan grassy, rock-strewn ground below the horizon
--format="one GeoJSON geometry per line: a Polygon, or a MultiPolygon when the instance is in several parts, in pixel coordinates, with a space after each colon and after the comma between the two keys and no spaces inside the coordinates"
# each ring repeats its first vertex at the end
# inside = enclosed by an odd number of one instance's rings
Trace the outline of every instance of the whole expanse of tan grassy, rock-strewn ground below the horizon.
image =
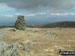
{"type": "Polygon", "coordinates": [[[0,56],[60,56],[75,50],[75,28],[0,29],[0,56]]]}

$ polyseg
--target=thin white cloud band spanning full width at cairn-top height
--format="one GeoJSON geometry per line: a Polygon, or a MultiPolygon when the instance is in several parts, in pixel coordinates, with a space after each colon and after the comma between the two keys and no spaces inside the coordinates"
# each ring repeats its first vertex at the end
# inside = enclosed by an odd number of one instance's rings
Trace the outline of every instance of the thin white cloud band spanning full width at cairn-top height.
{"type": "MultiPolygon", "coordinates": [[[[19,15],[24,15],[22,13],[15,13],[13,15],[0,15],[0,17],[15,17],[15,16],[19,16],[19,15]]],[[[26,17],[44,17],[44,16],[75,16],[75,13],[31,13],[31,14],[27,14],[27,15],[24,15],[26,17]]]]}

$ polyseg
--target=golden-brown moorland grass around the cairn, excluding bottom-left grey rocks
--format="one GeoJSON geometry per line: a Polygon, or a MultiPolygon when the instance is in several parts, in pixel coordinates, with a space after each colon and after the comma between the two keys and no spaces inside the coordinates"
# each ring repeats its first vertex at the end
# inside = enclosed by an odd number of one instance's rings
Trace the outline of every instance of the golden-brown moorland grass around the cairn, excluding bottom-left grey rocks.
{"type": "Polygon", "coordinates": [[[0,42],[23,43],[31,53],[20,50],[20,56],[59,56],[59,49],[75,50],[75,28],[27,28],[25,31],[18,32],[10,31],[11,29],[13,28],[0,29],[1,34],[7,36],[0,42]],[[48,34],[52,35],[48,36],[48,34]],[[56,37],[51,37],[53,35],[56,37]],[[32,45],[28,45],[30,42],[32,45]]]}

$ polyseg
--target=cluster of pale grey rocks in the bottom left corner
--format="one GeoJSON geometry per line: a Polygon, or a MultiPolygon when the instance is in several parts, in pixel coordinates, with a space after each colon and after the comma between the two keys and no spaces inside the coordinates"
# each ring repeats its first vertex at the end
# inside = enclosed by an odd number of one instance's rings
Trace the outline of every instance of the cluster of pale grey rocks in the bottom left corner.
{"type": "Polygon", "coordinates": [[[30,53],[30,49],[23,43],[0,42],[0,56],[19,56],[21,51],[30,53]]]}

